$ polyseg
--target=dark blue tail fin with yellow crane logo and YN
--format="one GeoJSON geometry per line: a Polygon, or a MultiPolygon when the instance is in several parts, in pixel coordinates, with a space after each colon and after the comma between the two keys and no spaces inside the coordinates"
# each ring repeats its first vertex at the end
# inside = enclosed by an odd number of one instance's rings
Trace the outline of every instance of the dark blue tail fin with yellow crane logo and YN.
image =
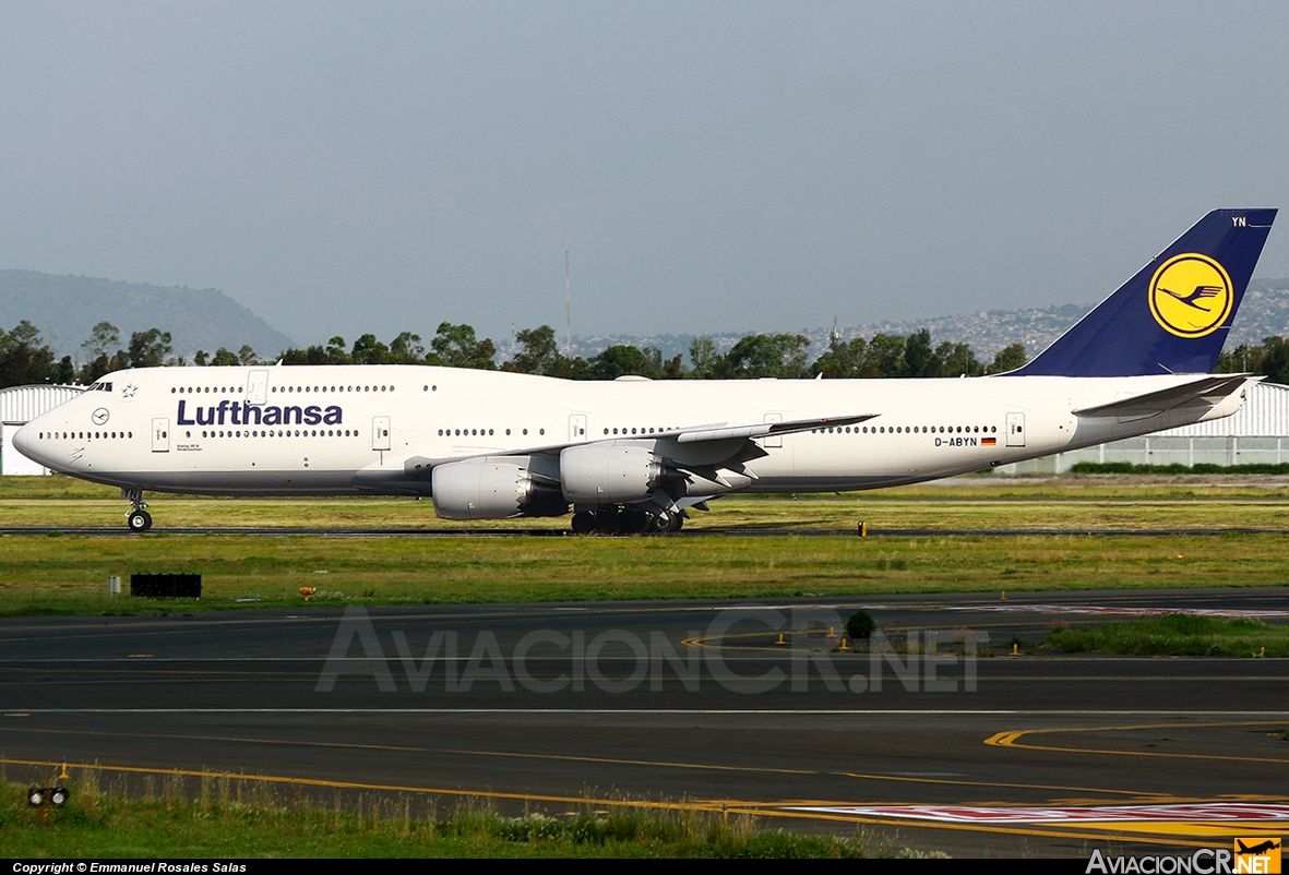
{"type": "Polygon", "coordinates": [[[1276,210],[1213,210],[1009,375],[1210,374],[1276,210]]]}

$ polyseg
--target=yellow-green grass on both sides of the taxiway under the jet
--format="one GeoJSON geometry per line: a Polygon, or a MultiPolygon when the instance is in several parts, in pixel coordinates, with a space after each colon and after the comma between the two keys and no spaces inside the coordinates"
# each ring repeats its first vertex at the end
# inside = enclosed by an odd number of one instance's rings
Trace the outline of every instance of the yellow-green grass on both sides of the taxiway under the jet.
{"type": "MultiPolygon", "coordinates": [[[[651,598],[869,597],[887,593],[1274,586],[1289,580],[1281,534],[1158,537],[936,535],[1003,527],[1289,531],[1277,481],[1192,485],[1115,477],[941,485],[847,496],[742,496],[691,528],[922,528],[919,537],[325,537],[199,535],[183,526],[459,528],[407,499],[226,500],[161,496],[144,536],[0,536],[0,616],[651,598]],[[1141,481],[1141,482],[1137,482],[1141,481]],[[1136,485],[1134,485],[1136,483],[1136,485]],[[1136,490],[1136,491],[1134,491],[1136,490]],[[179,528],[171,528],[179,527],[179,528]],[[107,577],[197,572],[200,602],[107,597],[107,577]],[[312,586],[307,603],[299,594],[312,586]],[[253,599],[253,601],[240,601],[253,599]]],[[[124,503],[63,477],[0,478],[0,524],[119,524],[124,503]]],[[[492,523],[565,528],[566,519],[492,523]]],[[[472,526],[473,527],[473,526],[472,526]]]]}

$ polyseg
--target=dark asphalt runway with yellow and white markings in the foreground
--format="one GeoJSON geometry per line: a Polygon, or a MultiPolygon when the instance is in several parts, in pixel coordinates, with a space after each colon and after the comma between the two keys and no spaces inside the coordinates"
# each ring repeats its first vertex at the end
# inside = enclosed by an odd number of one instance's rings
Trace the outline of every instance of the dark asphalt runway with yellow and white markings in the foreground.
{"type": "Polygon", "coordinates": [[[687,800],[962,856],[1280,836],[1289,661],[1032,647],[1165,610],[1284,624],[1289,589],[10,619],[0,750],[10,780],[687,800]],[[857,608],[891,652],[837,649],[857,608]]]}

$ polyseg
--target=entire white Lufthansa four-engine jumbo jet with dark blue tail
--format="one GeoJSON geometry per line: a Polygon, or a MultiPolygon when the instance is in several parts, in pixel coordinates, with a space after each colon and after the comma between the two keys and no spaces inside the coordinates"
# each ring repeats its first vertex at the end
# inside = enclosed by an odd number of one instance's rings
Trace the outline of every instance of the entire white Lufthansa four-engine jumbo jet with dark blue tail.
{"type": "Polygon", "coordinates": [[[1230,416],[1212,374],[1276,210],[1216,210],[1025,366],[971,379],[669,380],[418,365],[108,374],[14,446],[121,488],[429,496],[455,521],[677,531],[736,492],[871,490],[1230,416]],[[1178,295],[1176,289],[1195,289],[1178,295]],[[1196,305],[1201,300],[1203,307],[1196,305]]]}

